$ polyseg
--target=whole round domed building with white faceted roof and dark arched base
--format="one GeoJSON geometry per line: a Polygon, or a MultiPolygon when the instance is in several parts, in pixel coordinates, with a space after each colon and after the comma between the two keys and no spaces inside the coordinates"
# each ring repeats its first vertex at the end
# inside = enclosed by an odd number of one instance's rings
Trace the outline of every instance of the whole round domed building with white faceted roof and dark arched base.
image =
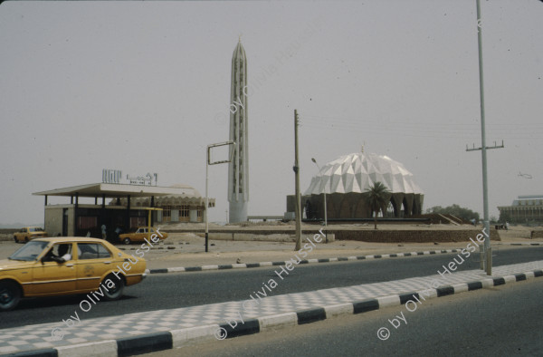
{"type": "MultiPolygon", "coordinates": [[[[329,218],[369,218],[372,213],[367,204],[367,190],[376,182],[382,182],[391,193],[388,206],[382,207],[379,216],[399,218],[421,214],[424,192],[402,163],[384,155],[357,152],[330,161],[311,178],[301,202],[306,217],[324,218],[326,193],[329,218]]],[[[294,207],[293,204],[293,197],[288,198],[287,209],[294,207]]]]}

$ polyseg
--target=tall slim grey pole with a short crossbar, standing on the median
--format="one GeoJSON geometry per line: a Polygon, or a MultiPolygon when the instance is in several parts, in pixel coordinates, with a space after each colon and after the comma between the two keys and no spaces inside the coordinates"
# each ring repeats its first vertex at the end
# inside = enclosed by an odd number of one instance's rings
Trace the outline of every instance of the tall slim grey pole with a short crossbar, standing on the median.
{"type": "Polygon", "coordinates": [[[501,141],[501,146],[496,146],[494,142],[493,147],[486,146],[486,131],[485,131],[485,122],[484,122],[484,86],[483,86],[483,76],[482,76],[482,22],[481,22],[481,4],[480,0],[477,1],[477,42],[479,44],[479,92],[481,96],[481,148],[475,148],[473,144],[472,149],[468,149],[466,146],[466,151],[481,150],[481,159],[482,159],[482,210],[483,210],[483,226],[486,232],[484,237],[484,249],[483,253],[485,256],[484,259],[484,268],[487,275],[492,275],[492,251],[491,251],[491,223],[489,222],[489,192],[488,192],[488,182],[487,182],[487,158],[486,150],[489,149],[498,149],[503,148],[503,141],[501,141]]]}

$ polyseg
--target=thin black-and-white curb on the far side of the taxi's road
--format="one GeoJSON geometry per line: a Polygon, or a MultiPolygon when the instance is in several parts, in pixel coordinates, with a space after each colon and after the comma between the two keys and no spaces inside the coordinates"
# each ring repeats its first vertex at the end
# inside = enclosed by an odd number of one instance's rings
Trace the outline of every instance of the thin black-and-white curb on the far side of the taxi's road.
{"type": "MultiPolygon", "coordinates": [[[[461,251],[462,251],[462,248],[429,250],[429,251],[426,250],[424,252],[382,254],[382,255],[376,255],[376,256],[339,256],[336,258],[303,259],[300,261],[300,264],[347,262],[347,261],[353,261],[353,260],[396,258],[396,257],[403,257],[403,256],[429,256],[429,255],[435,255],[435,254],[459,253],[461,251]]],[[[181,273],[181,272],[201,272],[204,270],[223,270],[223,269],[235,269],[235,268],[253,268],[253,267],[261,267],[261,266],[285,265],[289,262],[291,261],[287,260],[287,261],[260,262],[260,263],[179,266],[179,267],[169,267],[169,268],[147,269],[146,273],[163,274],[163,273],[181,273]]]]}

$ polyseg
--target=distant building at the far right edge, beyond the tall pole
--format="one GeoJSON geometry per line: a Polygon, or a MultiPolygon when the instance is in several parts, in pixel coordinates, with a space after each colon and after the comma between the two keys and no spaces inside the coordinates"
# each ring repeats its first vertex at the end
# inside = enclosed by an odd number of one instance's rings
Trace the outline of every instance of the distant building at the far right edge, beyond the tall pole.
{"type": "Polygon", "coordinates": [[[519,196],[511,206],[500,206],[500,220],[510,223],[543,223],[543,195],[519,196]]]}

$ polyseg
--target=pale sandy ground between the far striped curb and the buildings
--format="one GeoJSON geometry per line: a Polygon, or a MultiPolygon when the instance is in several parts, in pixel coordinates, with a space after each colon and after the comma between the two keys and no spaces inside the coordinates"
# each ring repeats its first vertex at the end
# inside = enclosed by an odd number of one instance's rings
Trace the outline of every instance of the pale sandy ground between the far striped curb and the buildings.
{"type": "MultiPolygon", "coordinates": [[[[391,225],[392,226],[392,225],[391,225]]],[[[401,226],[401,225],[394,225],[401,226]]],[[[440,226],[440,225],[435,225],[440,226]]],[[[389,228],[390,226],[386,227],[389,228]]],[[[441,227],[448,228],[449,226],[441,227]]],[[[464,227],[466,229],[466,227],[464,227]]],[[[472,229],[472,228],[471,228],[472,229]]],[[[500,230],[500,242],[492,242],[494,249],[517,248],[510,243],[541,243],[543,239],[529,239],[532,227],[510,227],[509,231],[500,230]]],[[[304,235],[304,237],[309,235],[304,235]]],[[[9,240],[0,241],[0,259],[10,256],[21,244],[15,244],[11,236],[9,240]]],[[[419,252],[428,250],[442,250],[452,248],[464,248],[466,242],[456,243],[370,243],[358,241],[336,241],[328,244],[318,244],[309,255],[308,259],[329,258],[339,256],[373,256],[380,254],[419,252]]],[[[284,261],[290,259],[296,253],[294,242],[259,242],[259,241],[209,241],[209,251],[205,252],[205,239],[193,233],[171,233],[167,240],[159,245],[163,249],[152,249],[146,253],[148,268],[166,268],[175,266],[196,265],[226,265],[240,263],[259,263],[265,261],[284,261]]],[[[138,245],[119,248],[128,254],[135,253],[138,245]]]]}

